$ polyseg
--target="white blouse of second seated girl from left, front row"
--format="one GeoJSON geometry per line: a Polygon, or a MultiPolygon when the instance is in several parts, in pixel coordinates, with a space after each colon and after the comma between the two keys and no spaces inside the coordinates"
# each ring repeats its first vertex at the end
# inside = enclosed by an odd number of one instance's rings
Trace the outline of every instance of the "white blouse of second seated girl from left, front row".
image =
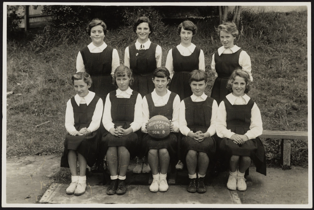
{"type": "MultiPolygon", "coordinates": [[[[133,94],[133,90],[128,87],[126,91],[121,91],[120,89],[116,90],[117,98],[130,98],[133,94]]],[[[105,102],[104,114],[102,117],[102,124],[105,129],[109,131],[111,128],[114,128],[114,123],[112,122],[111,117],[111,101],[108,93],[105,102]]],[[[143,115],[142,115],[142,96],[138,93],[136,98],[135,107],[134,107],[134,121],[130,124],[130,127],[133,129],[133,132],[139,130],[142,126],[143,115]]]]}

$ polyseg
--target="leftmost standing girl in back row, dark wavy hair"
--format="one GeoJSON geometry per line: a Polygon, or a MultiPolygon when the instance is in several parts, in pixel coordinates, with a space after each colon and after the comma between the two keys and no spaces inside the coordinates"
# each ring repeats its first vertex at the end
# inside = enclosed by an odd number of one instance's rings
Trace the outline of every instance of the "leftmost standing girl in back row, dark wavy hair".
{"type": "Polygon", "coordinates": [[[93,78],[90,87],[103,101],[110,91],[115,90],[111,80],[120,65],[118,51],[104,42],[107,25],[100,19],[93,19],[86,28],[92,42],[78,52],[77,72],[88,71],[93,78]]]}

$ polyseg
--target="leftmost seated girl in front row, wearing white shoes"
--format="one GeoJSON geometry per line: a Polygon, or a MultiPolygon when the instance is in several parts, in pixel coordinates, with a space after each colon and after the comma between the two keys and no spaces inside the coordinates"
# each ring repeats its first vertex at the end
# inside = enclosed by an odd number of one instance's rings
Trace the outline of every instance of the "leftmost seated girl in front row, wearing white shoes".
{"type": "Polygon", "coordinates": [[[72,76],[72,81],[77,94],[67,102],[65,127],[69,133],[64,141],[61,167],[70,168],[72,175],[66,193],[81,195],[86,188],[86,165],[91,167],[96,161],[103,102],[88,90],[92,84],[88,73],[78,72],[72,76]]]}

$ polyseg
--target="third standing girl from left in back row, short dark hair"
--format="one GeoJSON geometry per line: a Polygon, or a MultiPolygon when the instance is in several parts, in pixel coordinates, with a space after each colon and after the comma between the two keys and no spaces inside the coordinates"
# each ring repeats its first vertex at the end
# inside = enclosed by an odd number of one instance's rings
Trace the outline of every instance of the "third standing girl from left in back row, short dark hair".
{"type": "Polygon", "coordinates": [[[192,95],[189,86],[189,73],[195,69],[205,71],[204,52],[191,41],[197,27],[192,21],[183,21],[178,26],[181,43],[169,50],[166,68],[170,72],[169,90],[179,95],[181,99],[192,95]]]}

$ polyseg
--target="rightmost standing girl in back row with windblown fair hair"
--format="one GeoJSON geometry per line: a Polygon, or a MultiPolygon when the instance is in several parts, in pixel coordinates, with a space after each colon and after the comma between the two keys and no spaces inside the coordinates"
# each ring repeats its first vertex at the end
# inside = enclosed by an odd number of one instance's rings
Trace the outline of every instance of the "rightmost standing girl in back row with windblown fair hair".
{"type": "Polygon", "coordinates": [[[211,68],[217,78],[210,97],[214,98],[220,104],[226,95],[230,93],[226,85],[233,70],[243,69],[249,74],[251,82],[253,78],[250,56],[241,47],[234,45],[234,40],[239,35],[236,24],[232,22],[223,23],[218,26],[216,31],[218,32],[222,46],[213,54],[211,68]]]}

